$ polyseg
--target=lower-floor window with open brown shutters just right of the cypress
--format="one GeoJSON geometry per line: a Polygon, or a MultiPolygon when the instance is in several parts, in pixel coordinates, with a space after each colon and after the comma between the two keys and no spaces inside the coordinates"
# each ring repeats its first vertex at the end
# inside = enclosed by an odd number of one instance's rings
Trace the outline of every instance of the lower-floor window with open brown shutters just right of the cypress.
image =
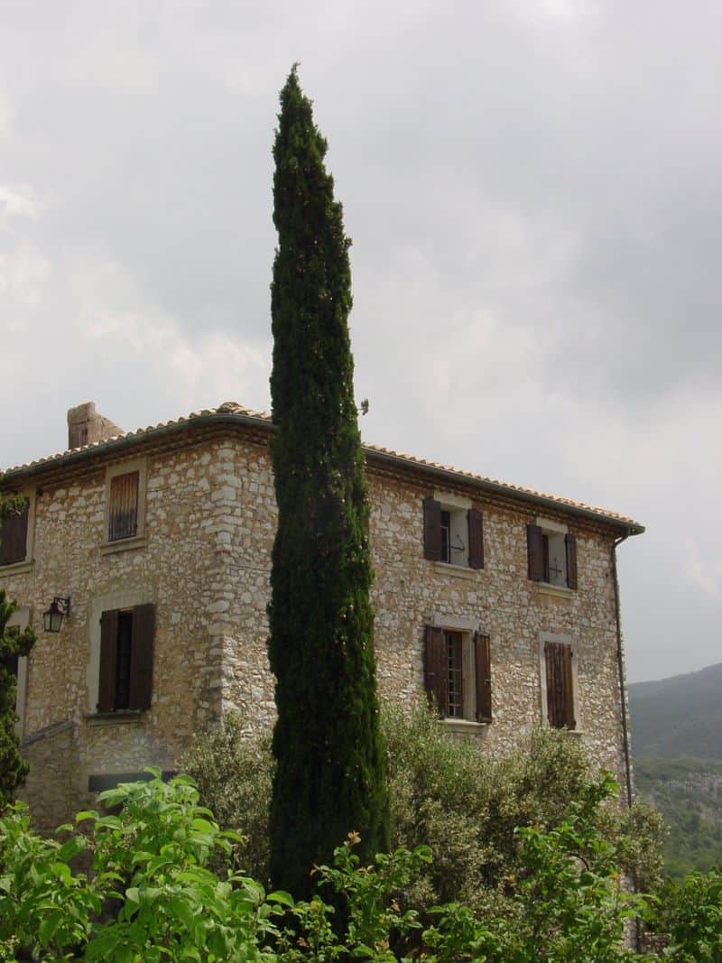
{"type": "Polygon", "coordinates": [[[440,716],[491,722],[488,636],[427,625],[424,677],[440,716]]]}

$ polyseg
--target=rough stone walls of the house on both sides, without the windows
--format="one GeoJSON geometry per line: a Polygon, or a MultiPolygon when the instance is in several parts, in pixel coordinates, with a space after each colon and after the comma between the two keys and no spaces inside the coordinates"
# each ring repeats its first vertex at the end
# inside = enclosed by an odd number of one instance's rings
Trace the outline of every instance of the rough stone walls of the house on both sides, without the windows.
{"type": "MultiPolygon", "coordinates": [[[[33,767],[23,795],[41,827],[88,805],[99,776],[174,768],[193,732],[231,708],[259,727],[272,723],[270,428],[261,419],[234,424],[206,414],[7,477],[31,499],[28,558],[0,569],[0,586],[27,607],[39,633],[21,672],[20,725],[33,767]],[[109,545],[107,478],[126,464],[142,465],[144,525],[109,545]],[[71,599],[59,634],[42,631],[41,613],[55,596],[71,599]],[[150,708],[98,715],[100,615],[143,603],[155,606],[150,708]]],[[[612,548],[635,523],[484,487],[413,459],[387,461],[370,451],[381,695],[409,703],[423,693],[426,625],[478,630],[490,638],[493,721],[450,725],[502,751],[525,742],[544,715],[544,639],[567,639],[576,657],[578,724],[570,738],[583,740],[624,784],[612,548]],[[425,559],[422,503],[434,492],[481,509],[483,568],[425,559]],[[577,589],[529,581],[527,524],[540,517],[576,535],[577,589]]]]}

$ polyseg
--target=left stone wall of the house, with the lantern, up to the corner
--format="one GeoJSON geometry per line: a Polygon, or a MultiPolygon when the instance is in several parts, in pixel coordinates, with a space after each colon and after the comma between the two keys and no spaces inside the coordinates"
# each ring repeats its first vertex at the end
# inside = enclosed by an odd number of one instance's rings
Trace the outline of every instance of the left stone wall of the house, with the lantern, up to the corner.
{"type": "MultiPolygon", "coordinates": [[[[219,716],[223,639],[214,623],[224,605],[228,452],[212,442],[148,455],[145,534],[133,547],[105,549],[105,467],[35,494],[32,565],[0,570],[0,585],[30,608],[38,632],[22,720],[23,752],[34,766],[24,796],[34,809],[44,813],[61,799],[85,805],[90,775],[173,768],[193,731],[219,716]],[[41,613],[56,595],[69,596],[71,610],[53,635],[42,631],[41,613]],[[156,607],[151,709],[98,717],[100,614],[145,602],[156,607]],[[72,752],[60,737],[36,742],[65,722],[72,752]]],[[[59,808],[56,821],[69,815],[59,808]]]]}

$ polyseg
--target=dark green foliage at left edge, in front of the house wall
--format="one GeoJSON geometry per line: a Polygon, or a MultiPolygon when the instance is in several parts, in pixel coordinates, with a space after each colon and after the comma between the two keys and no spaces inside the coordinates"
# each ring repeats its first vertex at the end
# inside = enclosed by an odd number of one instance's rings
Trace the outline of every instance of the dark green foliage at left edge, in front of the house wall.
{"type": "Polygon", "coordinates": [[[20,741],[15,735],[14,672],[9,661],[26,656],[35,642],[35,633],[27,628],[23,632],[8,621],[17,604],[0,588],[0,812],[13,799],[15,789],[28,774],[29,766],[20,755],[20,741]]]}

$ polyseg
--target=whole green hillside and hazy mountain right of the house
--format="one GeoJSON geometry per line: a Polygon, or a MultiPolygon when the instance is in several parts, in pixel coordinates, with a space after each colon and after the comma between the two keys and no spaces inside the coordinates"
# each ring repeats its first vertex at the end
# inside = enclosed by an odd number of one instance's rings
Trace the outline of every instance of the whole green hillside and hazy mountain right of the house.
{"type": "Polygon", "coordinates": [[[722,664],[630,686],[636,787],[670,826],[666,870],[722,865],[722,664]]]}

